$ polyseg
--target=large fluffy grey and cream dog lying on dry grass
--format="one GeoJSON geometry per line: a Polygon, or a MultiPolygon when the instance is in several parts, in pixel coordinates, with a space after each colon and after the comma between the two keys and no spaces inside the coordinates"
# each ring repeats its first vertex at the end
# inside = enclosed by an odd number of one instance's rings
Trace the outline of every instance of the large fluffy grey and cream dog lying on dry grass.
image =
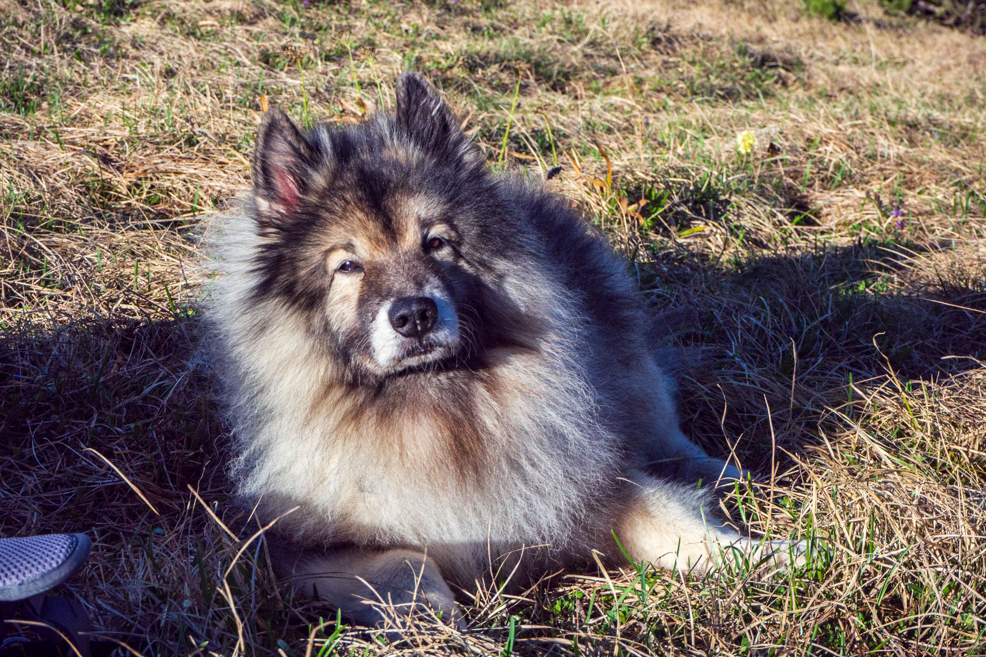
{"type": "Polygon", "coordinates": [[[494,175],[424,79],[396,91],[348,127],[268,111],[210,226],[233,474],[275,570],[382,624],[597,558],[790,559],[703,510],[698,480],[740,471],[678,428],[627,262],[494,175]]]}

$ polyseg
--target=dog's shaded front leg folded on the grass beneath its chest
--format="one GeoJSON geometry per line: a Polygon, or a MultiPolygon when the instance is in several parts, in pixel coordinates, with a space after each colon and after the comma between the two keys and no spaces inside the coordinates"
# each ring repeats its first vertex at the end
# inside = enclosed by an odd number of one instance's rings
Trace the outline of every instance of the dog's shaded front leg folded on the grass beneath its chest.
{"type": "Polygon", "coordinates": [[[461,625],[455,596],[438,565],[413,550],[294,552],[268,539],[276,572],[297,590],[342,611],[350,621],[395,629],[411,616],[461,625]]]}

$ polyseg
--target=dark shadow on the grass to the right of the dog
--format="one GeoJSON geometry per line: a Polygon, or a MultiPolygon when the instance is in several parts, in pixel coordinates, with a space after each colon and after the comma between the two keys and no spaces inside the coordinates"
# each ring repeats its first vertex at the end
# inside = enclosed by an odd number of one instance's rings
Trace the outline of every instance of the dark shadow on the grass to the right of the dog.
{"type": "Polygon", "coordinates": [[[923,251],[857,243],[652,267],[644,282],[655,305],[683,310],[669,330],[687,361],[686,431],[720,455],[738,447],[745,467],[763,471],[772,443],[814,443],[825,410],[852,399],[850,384],[891,371],[940,382],[981,366],[984,273],[917,271],[914,256],[935,255],[923,251]]]}

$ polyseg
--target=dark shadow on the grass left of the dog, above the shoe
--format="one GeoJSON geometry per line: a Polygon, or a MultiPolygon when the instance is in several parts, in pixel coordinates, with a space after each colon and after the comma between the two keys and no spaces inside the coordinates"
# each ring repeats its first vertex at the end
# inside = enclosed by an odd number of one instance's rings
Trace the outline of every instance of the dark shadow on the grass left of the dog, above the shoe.
{"type": "Polygon", "coordinates": [[[183,314],[46,312],[0,334],[0,536],[89,535],[93,553],[68,594],[103,636],[143,654],[190,652],[208,635],[201,620],[230,549],[189,491],[209,504],[230,491],[194,334],[183,314]]]}

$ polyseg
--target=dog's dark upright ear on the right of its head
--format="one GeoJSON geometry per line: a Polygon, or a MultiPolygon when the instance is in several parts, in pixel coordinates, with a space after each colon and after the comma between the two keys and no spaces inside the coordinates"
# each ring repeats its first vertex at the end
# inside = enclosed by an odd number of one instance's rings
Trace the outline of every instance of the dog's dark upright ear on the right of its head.
{"type": "Polygon", "coordinates": [[[418,145],[456,156],[465,136],[449,105],[416,73],[397,78],[397,127],[418,145]]]}

